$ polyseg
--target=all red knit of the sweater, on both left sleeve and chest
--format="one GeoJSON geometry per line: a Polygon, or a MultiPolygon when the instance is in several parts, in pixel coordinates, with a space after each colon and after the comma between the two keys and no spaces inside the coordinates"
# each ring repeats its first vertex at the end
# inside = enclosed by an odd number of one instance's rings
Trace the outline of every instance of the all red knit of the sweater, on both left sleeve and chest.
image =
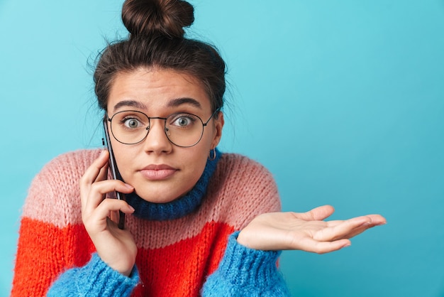
{"type": "MultiPolygon", "coordinates": [[[[233,227],[209,222],[195,237],[161,249],[139,249],[142,284],[133,296],[198,296],[217,269],[233,227]]],[[[11,296],[45,296],[52,281],[89,261],[94,245],[83,225],[54,225],[23,217],[11,296]]]]}

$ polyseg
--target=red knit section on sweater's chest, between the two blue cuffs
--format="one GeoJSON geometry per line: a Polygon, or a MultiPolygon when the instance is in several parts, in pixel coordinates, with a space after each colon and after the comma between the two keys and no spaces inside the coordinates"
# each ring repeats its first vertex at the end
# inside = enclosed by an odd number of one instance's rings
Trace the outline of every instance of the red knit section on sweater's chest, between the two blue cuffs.
{"type": "Polygon", "coordinates": [[[134,296],[198,296],[232,232],[233,227],[211,222],[195,237],[162,249],[140,249],[136,261],[143,285],[134,296]]]}

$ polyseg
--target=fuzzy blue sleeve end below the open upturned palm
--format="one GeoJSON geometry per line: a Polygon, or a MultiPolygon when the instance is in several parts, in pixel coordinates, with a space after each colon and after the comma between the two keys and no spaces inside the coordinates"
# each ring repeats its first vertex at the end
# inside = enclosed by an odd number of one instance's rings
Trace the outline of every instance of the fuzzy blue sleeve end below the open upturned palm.
{"type": "Polygon", "coordinates": [[[238,244],[239,232],[228,239],[226,252],[218,269],[202,288],[202,296],[290,296],[277,269],[281,252],[249,249],[238,244]]]}

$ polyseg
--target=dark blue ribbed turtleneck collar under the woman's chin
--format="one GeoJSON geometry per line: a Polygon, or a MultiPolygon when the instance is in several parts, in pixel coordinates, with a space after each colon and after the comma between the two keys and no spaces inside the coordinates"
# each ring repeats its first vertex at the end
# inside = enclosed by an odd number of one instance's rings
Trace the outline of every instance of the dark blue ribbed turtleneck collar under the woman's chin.
{"type": "Polygon", "coordinates": [[[194,188],[186,195],[171,202],[153,203],[143,200],[135,193],[127,194],[126,201],[135,209],[133,215],[145,220],[163,221],[178,219],[193,212],[201,205],[209,180],[216,170],[216,165],[220,158],[221,152],[216,148],[216,158],[206,161],[204,173],[202,173],[199,180],[197,180],[194,188]]]}

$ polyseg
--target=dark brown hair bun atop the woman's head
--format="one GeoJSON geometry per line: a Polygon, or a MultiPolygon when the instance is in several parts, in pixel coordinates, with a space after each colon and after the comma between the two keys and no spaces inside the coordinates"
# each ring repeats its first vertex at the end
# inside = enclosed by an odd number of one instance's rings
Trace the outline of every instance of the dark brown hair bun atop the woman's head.
{"type": "Polygon", "coordinates": [[[131,36],[183,37],[194,21],[194,8],[182,0],[126,0],[122,21],[131,36]]]}

